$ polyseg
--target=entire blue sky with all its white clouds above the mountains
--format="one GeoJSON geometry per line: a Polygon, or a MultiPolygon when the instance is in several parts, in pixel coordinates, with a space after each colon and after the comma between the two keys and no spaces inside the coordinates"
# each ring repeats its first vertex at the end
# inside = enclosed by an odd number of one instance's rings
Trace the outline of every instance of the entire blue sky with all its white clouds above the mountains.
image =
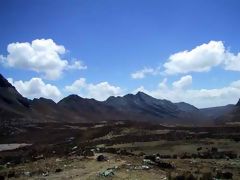
{"type": "Polygon", "coordinates": [[[238,0],[1,0],[0,73],[24,96],[240,98],[238,0]]]}

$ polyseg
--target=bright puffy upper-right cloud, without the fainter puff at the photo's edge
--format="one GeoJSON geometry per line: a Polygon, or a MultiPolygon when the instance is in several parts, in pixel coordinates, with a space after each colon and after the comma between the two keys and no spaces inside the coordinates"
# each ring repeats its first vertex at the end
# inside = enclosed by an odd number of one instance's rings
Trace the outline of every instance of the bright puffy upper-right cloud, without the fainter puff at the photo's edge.
{"type": "Polygon", "coordinates": [[[171,55],[164,67],[168,74],[209,71],[224,60],[224,53],[225,47],[221,41],[210,41],[191,51],[171,55]]]}

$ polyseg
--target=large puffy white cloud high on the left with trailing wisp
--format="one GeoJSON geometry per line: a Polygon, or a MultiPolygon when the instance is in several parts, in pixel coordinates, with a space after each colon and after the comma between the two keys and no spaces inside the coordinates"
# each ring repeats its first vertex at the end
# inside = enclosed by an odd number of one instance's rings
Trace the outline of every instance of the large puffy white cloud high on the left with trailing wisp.
{"type": "Polygon", "coordinates": [[[66,49],[52,39],[36,39],[31,43],[11,43],[7,47],[8,55],[0,56],[0,61],[14,68],[43,73],[47,79],[57,79],[65,69],[86,69],[81,61],[73,64],[62,58],[66,49]]]}

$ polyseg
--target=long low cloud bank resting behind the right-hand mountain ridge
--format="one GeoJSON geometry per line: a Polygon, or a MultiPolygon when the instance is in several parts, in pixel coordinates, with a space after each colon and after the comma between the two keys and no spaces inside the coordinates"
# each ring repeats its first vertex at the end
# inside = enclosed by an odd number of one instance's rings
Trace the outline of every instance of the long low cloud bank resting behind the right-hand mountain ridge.
{"type": "Polygon", "coordinates": [[[167,85],[166,81],[165,79],[160,83],[161,86],[153,90],[146,89],[144,86],[137,90],[159,99],[168,99],[173,102],[184,101],[198,108],[235,104],[240,98],[240,80],[216,89],[192,89],[190,86],[192,83],[191,76],[184,76],[171,85],[167,85]]]}

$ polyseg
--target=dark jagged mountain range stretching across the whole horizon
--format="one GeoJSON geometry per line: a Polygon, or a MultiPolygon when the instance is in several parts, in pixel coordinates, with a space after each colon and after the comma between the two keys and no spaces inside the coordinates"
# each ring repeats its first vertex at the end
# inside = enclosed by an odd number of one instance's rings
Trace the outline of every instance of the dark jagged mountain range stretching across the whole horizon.
{"type": "Polygon", "coordinates": [[[149,121],[174,125],[238,122],[236,105],[198,109],[185,102],[160,100],[143,92],[111,96],[105,101],[69,95],[58,103],[51,99],[23,97],[0,74],[0,120],[21,122],[149,121]]]}

